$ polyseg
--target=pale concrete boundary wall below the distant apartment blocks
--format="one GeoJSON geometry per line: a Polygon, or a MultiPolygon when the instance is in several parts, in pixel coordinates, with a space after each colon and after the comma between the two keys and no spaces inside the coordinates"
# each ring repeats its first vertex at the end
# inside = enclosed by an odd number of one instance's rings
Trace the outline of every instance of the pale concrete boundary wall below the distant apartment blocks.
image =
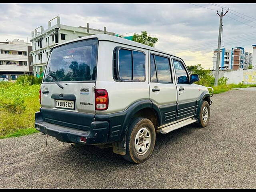
{"type": "MultiPolygon", "coordinates": [[[[212,74],[215,76],[215,71],[212,74]]],[[[256,69],[220,70],[219,78],[223,76],[228,78],[227,84],[238,84],[242,81],[244,84],[256,84],[256,69]]]]}

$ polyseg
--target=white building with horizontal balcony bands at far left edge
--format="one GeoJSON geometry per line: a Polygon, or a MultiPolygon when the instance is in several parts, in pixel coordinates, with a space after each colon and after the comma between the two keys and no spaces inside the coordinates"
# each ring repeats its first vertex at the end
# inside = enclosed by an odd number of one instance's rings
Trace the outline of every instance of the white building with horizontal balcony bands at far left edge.
{"type": "Polygon", "coordinates": [[[0,42],[0,77],[14,80],[18,74],[32,72],[31,50],[24,40],[0,42]]]}

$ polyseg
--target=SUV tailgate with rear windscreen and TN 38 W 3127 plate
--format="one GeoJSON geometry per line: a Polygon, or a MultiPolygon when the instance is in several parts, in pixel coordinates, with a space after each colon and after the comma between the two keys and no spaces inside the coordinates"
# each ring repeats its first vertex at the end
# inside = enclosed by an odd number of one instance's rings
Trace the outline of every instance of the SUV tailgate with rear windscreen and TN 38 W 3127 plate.
{"type": "Polygon", "coordinates": [[[64,44],[52,50],[41,86],[41,112],[45,120],[84,130],[90,128],[95,114],[97,52],[97,39],[64,44]]]}

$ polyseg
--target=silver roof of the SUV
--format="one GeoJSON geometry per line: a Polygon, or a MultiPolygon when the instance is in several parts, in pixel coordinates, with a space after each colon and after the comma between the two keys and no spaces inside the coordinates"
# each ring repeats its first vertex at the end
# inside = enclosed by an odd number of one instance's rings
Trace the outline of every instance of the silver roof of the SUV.
{"type": "Polygon", "coordinates": [[[148,50],[152,50],[152,51],[155,51],[155,52],[160,52],[160,53],[168,54],[168,55],[171,55],[171,56],[179,58],[178,56],[175,56],[175,55],[170,54],[168,52],[161,51],[161,50],[156,49],[154,47],[151,47],[151,46],[148,46],[148,45],[144,45],[144,44],[132,41],[132,40],[120,38],[120,37],[117,37],[117,36],[108,35],[108,34],[97,34],[97,35],[90,35],[90,36],[86,36],[86,37],[81,37],[81,38],[73,39],[73,40],[70,40],[70,41],[66,41],[66,42],[60,43],[60,44],[54,46],[53,48],[56,48],[58,46],[62,46],[64,44],[68,44],[68,43],[71,43],[71,42],[76,42],[76,41],[81,41],[81,40],[86,40],[86,39],[92,39],[92,38],[98,38],[99,41],[103,41],[103,40],[104,41],[111,41],[111,42],[117,42],[117,43],[120,43],[120,44],[126,44],[126,45],[130,45],[130,46],[134,46],[134,47],[144,48],[144,49],[148,49],[148,50]]]}

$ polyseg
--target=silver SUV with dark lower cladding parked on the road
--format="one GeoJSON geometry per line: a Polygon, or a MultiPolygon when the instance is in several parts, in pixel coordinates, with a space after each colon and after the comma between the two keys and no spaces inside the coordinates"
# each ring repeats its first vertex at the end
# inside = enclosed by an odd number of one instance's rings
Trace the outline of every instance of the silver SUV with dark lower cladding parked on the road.
{"type": "Polygon", "coordinates": [[[212,94],[195,81],[181,58],[144,44],[106,34],[71,40],[51,49],[35,127],[141,163],[156,133],[208,125],[212,94]]]}

